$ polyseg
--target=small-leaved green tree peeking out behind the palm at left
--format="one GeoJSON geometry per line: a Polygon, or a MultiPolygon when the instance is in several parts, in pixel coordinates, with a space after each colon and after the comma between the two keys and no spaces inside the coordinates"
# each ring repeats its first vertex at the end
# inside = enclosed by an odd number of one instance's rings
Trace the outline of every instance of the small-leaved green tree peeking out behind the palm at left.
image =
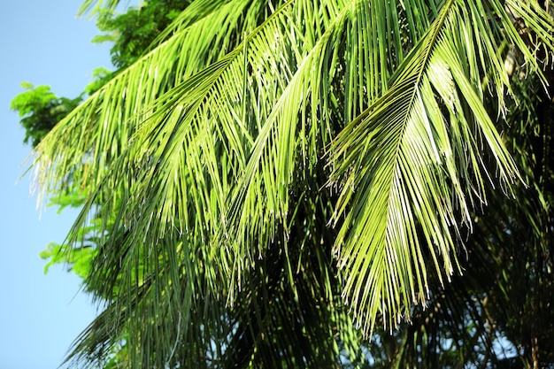
{"type": "MultiPolygon", "coordinates": [[[[101,31],[109,32],[107,35],[96,36],[93,42],[114,42],[112,55],[114,65],[120,68],[130,65],[140,54],[142,54],[158,35],[160,30],[164,29],[177,14],[184,9],[188,1],[155,1],[152,4],[143,4],[140,9],[130,8],[126,13],[115,15],[114,12],[104,10],[98,16],[97,26],[101,31]],[[153,29],[151,27],[154,27],[153,29]],[[150,32],[146,31],[150,29],[150,32]],[[129,46],[129,43],[135,42],[136,47],[129,46]]],[[[104,84],[110,81],[117,72],[112,72],[104,67],[98,67],[93,71],[93,81],[85,88],[81,96],[69,99],[59,98],[50,91],[49,86],[39,86],[35,88],[30,83],[22,83],[22,87],[27,91],[14,97],[12,101],[12,110],[19,111],[19,117],[22,117],[20,124],[26,129],[25,142],[32,140],[33,147],[42,140],[50,130],[65,116],[81,103],[83,96],[90,96],[104,84]]],[[[66,206],[80,208],[84,204],[84,193],[81,190],[64,193],[56,193],[50,199],[49,206],[58,206],[62,211],[66,206]]],[[[96,234],[98,229],[89,227],[91,234],[96,234]]],[[[91,246],[92,247],[92,246],[91,246]]],[[[67,251],[71,246],[59,245],[52,242],[47,250],[42,251],[41,258],[49,259],[45,265],[45,272],[51,265],[73,265],[73,271],[88,270],[85,265],[76,268],[73,259],[89,260],[92,251],[87,249],[83,254],[85,258],[79,256],[68,256],[67,251]],[[54,247],[55,246],[55,247],[54,247]],[[55,252],[54,252],[55,251],[55,252]],[[70,260],[71,259],[71,260],[70,260]]],[[[81,253],[81,251],[77,251],[81,253]]],[[[79,263],[81,265],[81,263],[79,263]]],[[[77,273],[83,277],[87,273],[77,273]]]]}

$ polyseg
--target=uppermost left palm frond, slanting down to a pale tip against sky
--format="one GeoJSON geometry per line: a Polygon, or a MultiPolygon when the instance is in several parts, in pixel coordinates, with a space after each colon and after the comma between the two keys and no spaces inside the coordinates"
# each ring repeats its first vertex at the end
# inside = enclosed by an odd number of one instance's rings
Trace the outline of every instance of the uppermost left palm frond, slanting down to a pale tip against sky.
{"type": "Polygon", "coordinates": [[[219,7],[210,8],[211,12],[196,6],[187,8],[180,17],[180,32],[119,73],[69,114],[52,132],[52,136],[58,136],[56,143],[46,142],[36,148],[35,161],[42,165],[38,181],[44,191],[64,186],[64,179],[55,173],[80,173],[83,185],[94,187],[106,166],[126,150],[130,137],[148,119],[158,98],[233,50],[241,42],[241,35],[258,26],[259,7],[264,3],[221,1],[219,7]],[[214,44],[227,44],[227,49],[214,48],[214,44]],[[60,155],[58,146],[66,147],[67,152],[60,155]],[[86,170],[83,156],[88,158],[86,170]],[[56,169],[50,166],[52,162],[56,162],[56,169]]]}

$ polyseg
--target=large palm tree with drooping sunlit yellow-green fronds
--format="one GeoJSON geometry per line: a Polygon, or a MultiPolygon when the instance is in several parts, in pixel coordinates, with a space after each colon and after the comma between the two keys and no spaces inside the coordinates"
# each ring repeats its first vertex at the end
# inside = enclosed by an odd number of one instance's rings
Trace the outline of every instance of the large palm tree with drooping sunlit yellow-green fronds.
{"type": "Polygon", "coordinates": [[[103,219],[104,309],[68,359],[360,362],[458,279],[491,188],[516,193],[504,58],[546,83],[551,21],[513,0],[190,4],[35,150],[42,194],[88,189],[69,242],[103,219]]]}

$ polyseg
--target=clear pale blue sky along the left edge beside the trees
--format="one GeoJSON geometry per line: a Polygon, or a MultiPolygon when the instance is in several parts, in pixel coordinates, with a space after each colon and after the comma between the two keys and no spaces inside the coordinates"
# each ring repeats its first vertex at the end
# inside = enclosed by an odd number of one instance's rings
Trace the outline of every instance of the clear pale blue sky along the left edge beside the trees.
{"type": "Polygon", "coordinates": [[[39,219],[30,179],[20,166],[30,151],[10,111],[19,83],[79,95],[92,70],[110,67],[109,45],[90,42],[94,20],[75,17],[80,0],[0,1],[0,369],[55,369],[96,308],[80,280],[61,266],[42,273],[38,254],[62,242],[76,212],[47,208],[39,219]]]}

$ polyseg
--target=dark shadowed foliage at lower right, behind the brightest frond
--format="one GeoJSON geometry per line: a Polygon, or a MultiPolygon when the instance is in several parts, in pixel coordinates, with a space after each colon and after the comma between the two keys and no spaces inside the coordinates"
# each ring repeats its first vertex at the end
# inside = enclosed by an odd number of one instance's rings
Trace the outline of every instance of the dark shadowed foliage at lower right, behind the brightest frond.
{"type": "MultiPolygon", "coordinates": [[[[473,213],[466,272],[433,288],[427,310],[412,311],[411,325],[370,344],[373,360],[384,363],[375,367],[554,363],[553,91],[535,75],[522,78],[525,71],[517,70],[506,96],[504,137],[528,187],[513,188],[510,200],[489,188],[489,206],[473,213]]],[[[545,74],[551,86],[554,73],[547,68],[545,74]]]]}

